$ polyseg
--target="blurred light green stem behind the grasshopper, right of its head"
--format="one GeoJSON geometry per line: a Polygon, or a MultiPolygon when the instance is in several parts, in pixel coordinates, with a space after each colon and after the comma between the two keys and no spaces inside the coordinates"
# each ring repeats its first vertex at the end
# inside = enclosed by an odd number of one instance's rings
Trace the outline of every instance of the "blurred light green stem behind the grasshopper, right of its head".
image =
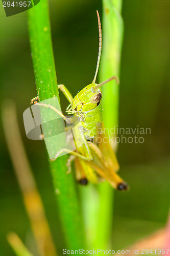
{"type": "MultiPolygon", "coordinates": [[[[120,16],[122,0],[103,0],[103,50],[100,82],[116,75],[119,77],[120,55],[123,41],[123,20],[120,16]]],[[[103,120],[110,131],[118,124],[119,88],[113,80],[102,87],[103,120]]],[[[116,136],[116,134],[114,135],[116,136]]],[[[113,189],[107,183],[99,185],[100,210],[96,241],[101,248],[108,248],[112,232],[113,189]]]]}

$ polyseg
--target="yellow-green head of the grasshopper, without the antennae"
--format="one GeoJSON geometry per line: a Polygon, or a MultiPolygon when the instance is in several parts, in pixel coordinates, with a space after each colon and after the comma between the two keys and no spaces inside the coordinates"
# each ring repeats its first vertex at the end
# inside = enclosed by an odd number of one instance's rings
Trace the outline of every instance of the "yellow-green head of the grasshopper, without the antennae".
{"type": "Polygon", "coordinates": [[[96,86],[98,84],[90,83],[82,89],[73,99],[71,109],[81,112],[95,109],[102,99],[101,88],[95,88],[96,86]]]}

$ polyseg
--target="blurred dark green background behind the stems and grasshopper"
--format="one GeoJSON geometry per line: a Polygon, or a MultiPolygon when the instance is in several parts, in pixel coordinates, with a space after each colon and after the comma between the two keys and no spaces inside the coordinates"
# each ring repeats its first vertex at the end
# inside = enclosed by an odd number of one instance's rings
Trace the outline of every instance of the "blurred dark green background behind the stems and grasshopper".
{"type": "MultiPolygon", "coordinates": [[[[89,84],[98,54],[96,9],[101,1],[50,1],[53,48],[58,83],[75,96],[89,84]]],[[[127,193],[115,192],[113,248],[123,248],[165,225],[169,208],[170,168],[170,2],[128,0],[123,3],[125,24],[120,72],[119,126],[150,127],[144,143],[120,143],[120,176],[129,184],[127,193]]],[[[45,147],[29,140],[22,114],[36,96],[27,30],[27,13],[6,17],[0,8],[1,103],[13,99],[26,151],[42,196],[54,241],[61,251],[64,242],[45,147]]],[[[67,101],[61,94],[64,110],[67,101]]],[[[110,110],[110,115],[112,110],[110,110]]],[[[6,241],[15,231],[32,248],[29,220],[14,176],[1,126],[0,255],[14,255],[6,241]]],[[[35,254],[36,255],[36,254],[35,254]]]]}

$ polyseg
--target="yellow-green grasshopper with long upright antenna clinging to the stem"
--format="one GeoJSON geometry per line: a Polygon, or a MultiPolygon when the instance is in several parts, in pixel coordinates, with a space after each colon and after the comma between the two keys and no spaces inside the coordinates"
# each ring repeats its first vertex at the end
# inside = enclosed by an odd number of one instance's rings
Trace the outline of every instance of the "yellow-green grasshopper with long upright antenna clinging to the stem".
{"type": "MultiPolygon", "coordinates": [[[[109,142],[108,135],[106,133],[104,134],[104,124],[102,122],[101,86],[112,79],[118,82],[118,78],[113,76],[102,83],[95,83],[102,51],[102,29],[98,11],[97,15],[99,25],[99,54],[92,83],[88,84],[88,86],[82,89],[74,98],[63,84],[58,85],[58,88],[70,102],[66,112],[68,115],[73,114],[80,118],[80,122],[77,125],[77,133],[81,136],[83,144],[77,148],[76,151],[72,152],[67,148],[62,148],[62,150],[57,152],[55,159],[59,157],[61,153],[70,154],[67,162],[67,173],[70,172],[71,161],[75,160],[76,178],[82,185],[86,185],[88,181],[96,184],[106,179],[115,189],[127,190],[127,183],[116,174],[119,165],[109,142]],[[98,143],[99,139],[101,143],[98,143]]],[[[37,100],[38,97],[32,99],[31,103],[52,109],[67,123],[73,122],[71,118],[64,116],[62,112],[53,105],[40,103],[37,102],[37,100]]]]}

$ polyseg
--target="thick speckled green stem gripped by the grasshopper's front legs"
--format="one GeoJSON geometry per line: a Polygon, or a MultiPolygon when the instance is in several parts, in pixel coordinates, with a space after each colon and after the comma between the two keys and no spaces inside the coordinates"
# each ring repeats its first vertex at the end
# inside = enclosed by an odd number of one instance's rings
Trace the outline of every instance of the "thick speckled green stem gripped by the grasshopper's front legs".
{"type": "MultiPolygon", "coordinates": [[[[38,5],[28,11],[28,21],[39,100],[59,97],[47,0],[41,0],[38,5]]],[[[52,142],[54,145],[57,143],[55,140],[52,142]]],[[[66,245],[67,248],[76,250],[84,248],[84,228],[74,178],[71,174],[66,174],[66,162],[67,156],[62,156],[56,161],[51,161],[50,166],[66,245]]]]}

